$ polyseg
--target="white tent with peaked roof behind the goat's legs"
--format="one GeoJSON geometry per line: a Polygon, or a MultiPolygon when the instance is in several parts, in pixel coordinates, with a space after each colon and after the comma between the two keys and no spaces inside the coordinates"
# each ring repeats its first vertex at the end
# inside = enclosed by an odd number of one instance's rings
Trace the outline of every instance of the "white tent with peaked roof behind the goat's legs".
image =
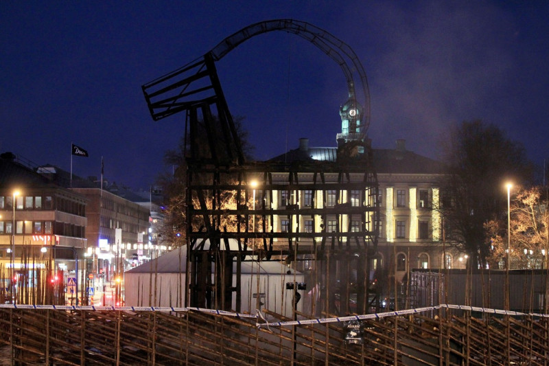
{"type": "MultiPolygon", "coordinates": [[[[236,240],[229,240],[229,244],[231,250],[237,249],[236,240]]],[[[208,248],[209,245],[206,242],[205,250],[208,248]]],[[[250,256],[246,257],[248,260],[250,258],[250,256]]],[[[182,301],[185,301],[186,264],[187,247],[185,246],[126,271],[124,274],[126,306],[185,306],[182,301]]],[[[242,262],[241,273],[241,312],[255,312],[259,294],[259,299],[263,303],[259,305],[261,309],[268,309],[286,317],[292,317],[294,290],[286,290],[286,283],[302,283],[302,273],[276,261],[242,262]]],[[[232,286],[236,286],[235,263],[233,264],[232,286]]],[[[304,295],[304,291],[299,292],[301,292],[300,295],[304,295]]],[[[297,304],[298,310],[301,311],[302,307],[303,300],[297,304]]],[[[233,293],[232,308],[236,309],[236,293],[233,293]]]]}

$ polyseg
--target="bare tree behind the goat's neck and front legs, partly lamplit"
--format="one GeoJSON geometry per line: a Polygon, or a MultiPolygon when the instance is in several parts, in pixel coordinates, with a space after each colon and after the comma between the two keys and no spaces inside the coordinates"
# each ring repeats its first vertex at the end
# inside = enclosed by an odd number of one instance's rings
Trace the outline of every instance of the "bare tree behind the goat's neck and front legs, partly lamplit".
{"type": "MultiPolygon", "coordinates": [[[[233,122],[237,130],[237,135],[240,137],[240,143],[242,144],[242,150],[247,159],[250,159],[253,152],[253,146],[248,141],[248,132],[244,129],[242,122],[244,117],[233,117],[233,122]]],[[[202,126],[202,124],[200,124],[202,126]]],[[[219,129],[218,129],[219,131],[219,129]]],[[[218,139],[222,137],[217,137],[218,139]]],[[[187,233],[187,154],[189,151],[189,137],[187,141],[185,137],[180,139],[178,146],[174,149],[167,150],[164,155],[164,162],[166,165],[172,167],[172,172],[168,172],[159,176],[158,183],[163,187],[163,193],[165,196],[165,220],[163,228],[161,228],[161,235],[163,238],[170,242],[180,246],[186,243],[185,234],[187,233]]],[[[199,128],[198,139],[201,149],[204,149],[205,155],[209,148],[208,139],[205,128],[199,128]]],[[[194,177],[194,179],[201,179],[200,183],[209,184],[205,177],[194,177]]],[[[221,197],[221,209],[234,209],[237,205],[236,192],[225,191],[221,197]]],[[[198,207],[198,197],[192,197],[192,203],[194,207],[198,207]]],[[[207,204],[211,204],[211,197],[207,198],[207,204]]],[[[195,220],[196,221],[196,220],[195,220]]],[[[221,226],[235,227],[238,223],[234,218],[224,218],[221,226]]],[[[201,223],[196,221],[191,225],[194,225],[196,229],[200,227],[201,223]]],[[[240,222],[240,225],[243,225],[240,222]]]]}

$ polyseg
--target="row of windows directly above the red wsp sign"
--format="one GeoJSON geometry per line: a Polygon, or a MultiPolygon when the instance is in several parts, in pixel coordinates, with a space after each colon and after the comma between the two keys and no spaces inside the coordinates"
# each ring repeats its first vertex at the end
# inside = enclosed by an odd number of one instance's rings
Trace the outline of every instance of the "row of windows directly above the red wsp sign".
{"type": "MultiPolygon", "coordinates": [[[[0,221],[0,234],[13,233],[12,221],[0,221]]],[[[33,234],[55,234],[71,236],[73,238],[85,238],[85,228],[80,225],[73,225],[67,222],[53,221],[16,221],[15,233],[23,235],[33,234]]]]}

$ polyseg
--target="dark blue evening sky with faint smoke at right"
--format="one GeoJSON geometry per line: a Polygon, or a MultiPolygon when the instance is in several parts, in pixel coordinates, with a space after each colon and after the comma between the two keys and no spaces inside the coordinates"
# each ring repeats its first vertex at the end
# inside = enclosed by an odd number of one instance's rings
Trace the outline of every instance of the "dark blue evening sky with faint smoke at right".
{"type": "MultiPolygon", "coordinates": [[[[252,23],[296,19],[358,55],[371,94],[374,148],[436,158],[456,122],[483,119],[549,161],[547,1],[1,1],[0,151],[81,176],[148,187],[184,115],[153,122],[141,85],[252,23]],[[505,3],[505,4],[503,4],[505,3]],[[526,3],[526,4],[525,4],[526,3]]],[[[294,34],[255,36],[217,62],[233,115],[258,159],[334,146],[343,73],[294,34]]]]}

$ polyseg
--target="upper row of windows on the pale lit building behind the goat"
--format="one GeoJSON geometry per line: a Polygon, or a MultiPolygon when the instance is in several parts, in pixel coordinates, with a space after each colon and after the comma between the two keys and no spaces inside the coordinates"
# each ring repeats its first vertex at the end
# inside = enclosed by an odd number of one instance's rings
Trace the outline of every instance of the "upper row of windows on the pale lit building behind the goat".
{"type": "MultiPolygon", "coordinates": [[[[288,206],[294,202],[297,202],[295,198],[294,191],[279,191],[280,192],[280,205],[281,207],[288,206]]],[[[311,207],[313,194],[311,190],[302,191],[301,199],[303,200],[303,207],[311,207]]],[[[407,190],[396,190],[396,201],[394,203],[395,207],[408,207],[408,197],[407,190]]],[[[361,194],[360,190],[351,190],[349,192],[349,200],[352,207],[359,207],[361,203],[361,194]]],[[[334,207],[338,201],[341,201],[341,197],[338,200],[338,190],[327,190],[325,191],[325,204],[327,207],[334,207]]],[[[383,206],[383,193],[382,190],[379,190],[377,194],[377,203],[379,206],[383,206]]],[[[418,208],[429,208],[431,207],[429,190],[419,190],[417,194],[417,207],[418,208]]]]}

